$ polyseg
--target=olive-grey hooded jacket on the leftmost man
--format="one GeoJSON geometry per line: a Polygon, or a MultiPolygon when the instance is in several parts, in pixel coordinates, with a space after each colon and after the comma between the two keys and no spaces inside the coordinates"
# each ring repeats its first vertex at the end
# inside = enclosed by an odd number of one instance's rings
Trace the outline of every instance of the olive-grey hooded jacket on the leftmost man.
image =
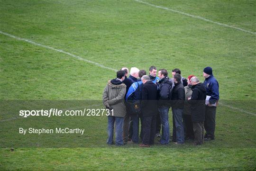
{"type": "Polygon", "coordinates": [[[124,117],[126,115],[126,107],[124,97],[126,93],[126,85],[117,79],[108,81],[104,89],[102,99],[104,106],[113,108],[113,115],[110,111],[110,116],[124,117]]]}

